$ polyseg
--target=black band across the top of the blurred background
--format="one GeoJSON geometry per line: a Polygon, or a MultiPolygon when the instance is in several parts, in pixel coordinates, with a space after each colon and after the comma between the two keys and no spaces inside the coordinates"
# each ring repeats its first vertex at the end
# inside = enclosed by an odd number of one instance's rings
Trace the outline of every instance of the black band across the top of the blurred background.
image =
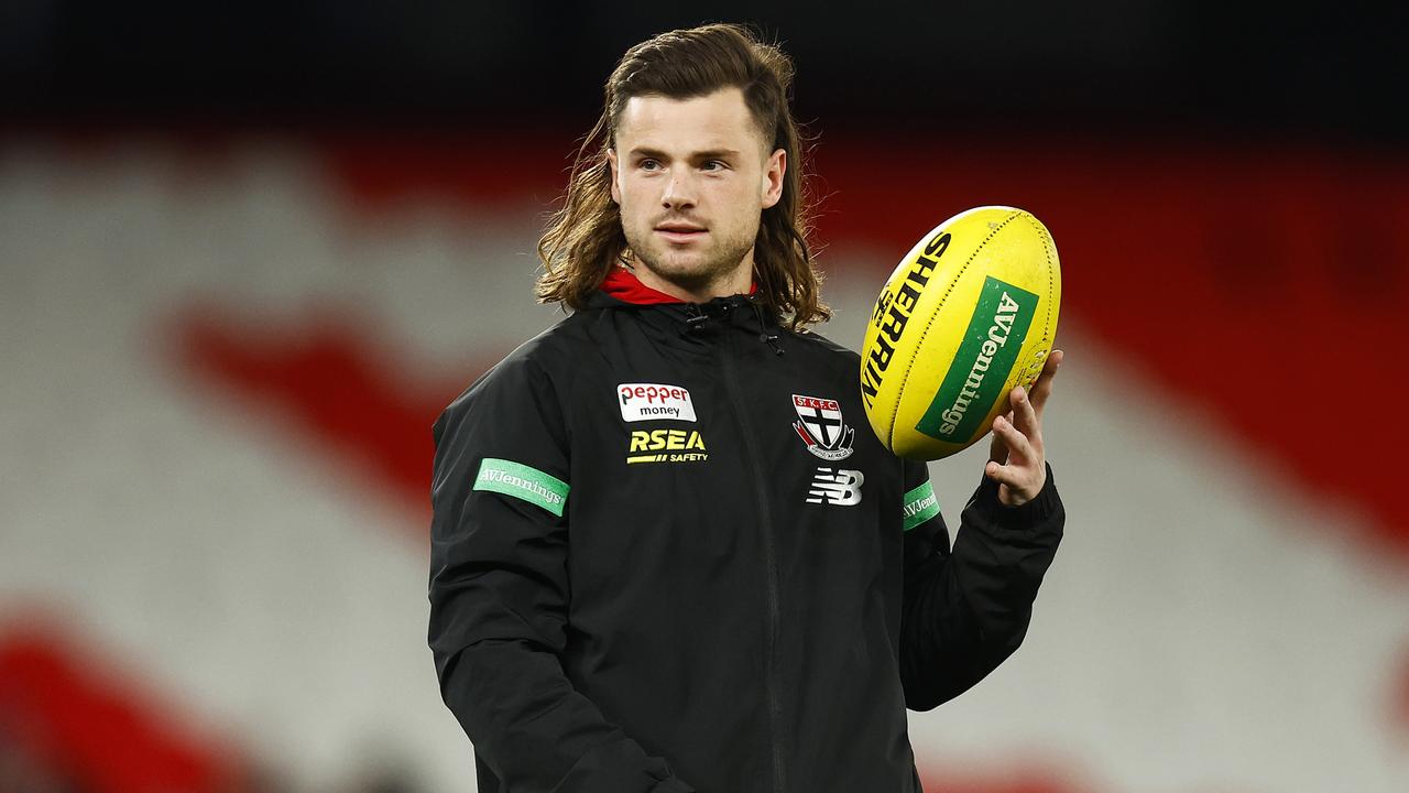
{"type": "Polygon", "coordinates": [[[0,4],[11,124],[588,126],[620,54],[748,21],[828,130],[1403,147],[1402,4],[0,4]]]}

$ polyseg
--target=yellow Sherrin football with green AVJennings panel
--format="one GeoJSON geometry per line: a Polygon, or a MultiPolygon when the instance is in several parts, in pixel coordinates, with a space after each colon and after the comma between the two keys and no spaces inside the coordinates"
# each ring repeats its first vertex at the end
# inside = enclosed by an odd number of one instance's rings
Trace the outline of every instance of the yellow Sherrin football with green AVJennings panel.
{"type": "Polygon", "coordinates": [[[861,399],[892,452],[938,460],[988,435],[1053,350],[1061,265],[1047,227],[1010,206],[955,214],[916,243],[876,299],[861,399]]]}

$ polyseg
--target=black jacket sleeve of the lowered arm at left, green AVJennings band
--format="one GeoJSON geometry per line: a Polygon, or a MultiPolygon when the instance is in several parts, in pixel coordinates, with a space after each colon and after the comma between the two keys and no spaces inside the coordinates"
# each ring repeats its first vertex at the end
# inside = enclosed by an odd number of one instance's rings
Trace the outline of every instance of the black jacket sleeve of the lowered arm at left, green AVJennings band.
{"type": "Polygon", "coordinates": [[[513,793],[690,793],[569,683],[568,440],[531,360],[435,420],[430,648],[441,696],[513,793]]]}

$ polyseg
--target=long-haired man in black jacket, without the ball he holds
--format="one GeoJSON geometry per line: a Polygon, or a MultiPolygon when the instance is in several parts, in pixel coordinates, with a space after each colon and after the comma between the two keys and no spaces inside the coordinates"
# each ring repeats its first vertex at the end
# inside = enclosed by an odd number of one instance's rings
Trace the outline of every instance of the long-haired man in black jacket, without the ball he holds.
{"type": "Polygon", "coordinates": [[[1061,354],[951,553],[857,354],[803,330],[827,309],[789,80],[731,25],[631,48],[540,243],[540,298],[575,312],[435,422],[430,645],[485,793],[919,790],[906,707],[1027,629],[1061,354]]]}

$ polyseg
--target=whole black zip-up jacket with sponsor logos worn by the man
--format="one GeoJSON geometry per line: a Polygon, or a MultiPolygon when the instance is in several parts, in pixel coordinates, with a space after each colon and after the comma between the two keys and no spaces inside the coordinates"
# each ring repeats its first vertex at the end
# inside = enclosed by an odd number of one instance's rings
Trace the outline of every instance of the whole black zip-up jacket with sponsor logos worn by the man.
{"type": "Polygon", "coordinates": [[[906,707],[1017,648],[1064,512],[985,480],[951,553],[858,368],[599,292],[445,409],[430,646],[480,792],[919,790],[906,707]]]}

